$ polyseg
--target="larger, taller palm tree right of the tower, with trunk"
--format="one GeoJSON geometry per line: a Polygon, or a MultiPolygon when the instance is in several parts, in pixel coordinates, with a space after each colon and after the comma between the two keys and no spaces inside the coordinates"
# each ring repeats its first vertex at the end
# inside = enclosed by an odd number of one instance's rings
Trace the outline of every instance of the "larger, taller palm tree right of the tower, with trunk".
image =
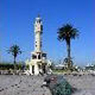
{"type": "Polygon", "coordinates": [[[72,66],[71,61],[71,39],[75,39],[79,35],[79,31],[74,28],[71,24],[65,24],[58,29],[58,40],[66,41],[67,45],[67,59],[68,59],[68,68],[72,66]]]}

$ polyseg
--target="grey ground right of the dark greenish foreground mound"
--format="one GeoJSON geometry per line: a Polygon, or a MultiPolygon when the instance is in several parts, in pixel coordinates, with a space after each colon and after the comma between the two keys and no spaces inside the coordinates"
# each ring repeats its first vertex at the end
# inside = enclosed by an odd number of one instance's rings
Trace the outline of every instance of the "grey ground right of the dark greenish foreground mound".
{"type": "Polygon", "coordinates": [[[95,76],[69,75],[65,78],[74,88],[77,89],[73,95],[95,95],[95,76]]]}

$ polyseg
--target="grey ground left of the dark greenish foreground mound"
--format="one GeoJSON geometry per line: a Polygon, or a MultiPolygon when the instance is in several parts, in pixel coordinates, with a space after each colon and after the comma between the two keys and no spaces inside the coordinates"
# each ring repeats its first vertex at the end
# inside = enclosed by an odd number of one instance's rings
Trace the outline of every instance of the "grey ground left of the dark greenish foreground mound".
{"type": "Polygon", "coordinates": [[[38,76],[0,75],[0,95],[51,95],[38,76]]]}

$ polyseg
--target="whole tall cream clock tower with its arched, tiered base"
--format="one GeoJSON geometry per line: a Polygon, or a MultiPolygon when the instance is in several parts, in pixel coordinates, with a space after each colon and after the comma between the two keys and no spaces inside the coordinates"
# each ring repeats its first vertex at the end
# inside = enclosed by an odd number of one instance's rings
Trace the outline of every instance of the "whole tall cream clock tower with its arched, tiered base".
{"type": "Polygon", "coordinates": [[[31,53],[31,59],[26,63],[29,65],[31,75],[44,74],[48,70],[47,54],[42,51],[42,33],[42,20],[38,16],[34,22],[34,51],[31,53]]]}

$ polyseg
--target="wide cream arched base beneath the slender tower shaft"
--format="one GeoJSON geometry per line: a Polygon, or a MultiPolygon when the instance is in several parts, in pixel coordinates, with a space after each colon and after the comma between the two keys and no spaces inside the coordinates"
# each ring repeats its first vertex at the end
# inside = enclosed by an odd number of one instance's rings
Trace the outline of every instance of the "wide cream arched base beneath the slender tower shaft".
{"type": "Polygon", "coordinates": [[[48,71],[46,53],[32,52],[32,58],[28,62],[31,75],[45,74],[48,71]]]}

